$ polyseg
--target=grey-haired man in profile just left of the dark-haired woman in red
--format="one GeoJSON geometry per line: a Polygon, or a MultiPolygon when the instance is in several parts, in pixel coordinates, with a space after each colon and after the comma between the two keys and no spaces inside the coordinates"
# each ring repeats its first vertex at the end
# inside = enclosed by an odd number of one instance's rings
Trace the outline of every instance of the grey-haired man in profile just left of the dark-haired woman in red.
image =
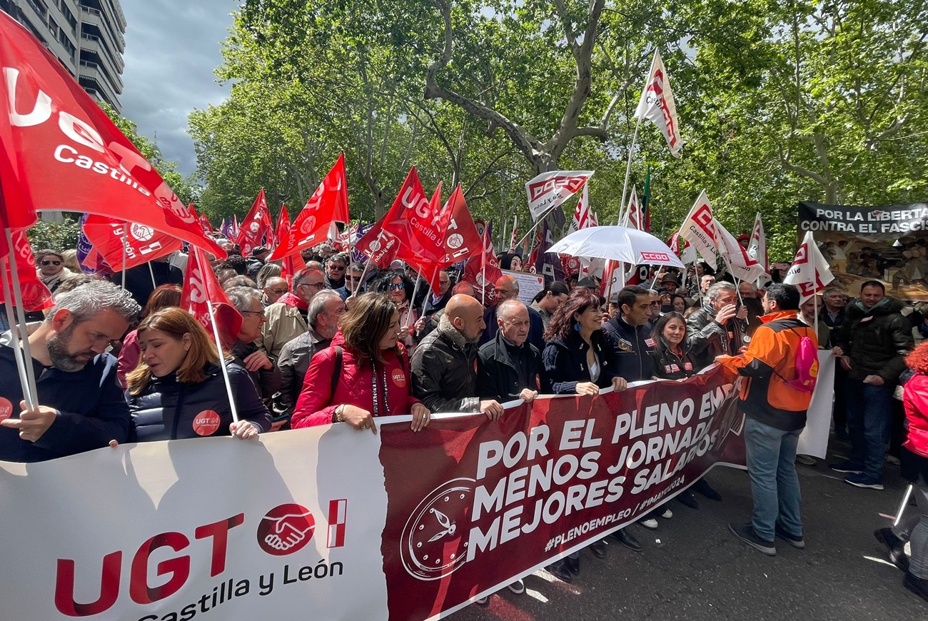
{"type": "Polygon", "coordinates": [[[279,409],[283,416],[290,418],[293,413],[310,360],[332,343],[344,314],[345,303],[338,292],[319,291],[309,303],[309,328],[280,350],[277,367],[281,374],[279,409]]]}

